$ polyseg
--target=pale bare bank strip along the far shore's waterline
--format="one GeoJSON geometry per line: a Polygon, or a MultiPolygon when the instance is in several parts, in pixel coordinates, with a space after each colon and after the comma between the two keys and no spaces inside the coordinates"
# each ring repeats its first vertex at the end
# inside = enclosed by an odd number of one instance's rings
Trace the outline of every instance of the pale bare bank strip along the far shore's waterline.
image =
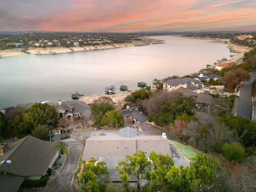
{"type": "Polygon", "coordinates": [[[2,58],[6,57],[18,57],[28,54],[58,54],[58,53],[68,53],[76,51],[94,51],[94,50],[108,50],[116,49],[128,46],[145,46],[150,44],[161,44],[164,43],[161,39],[142,37],[141,41],[132,41],[129,43],[115,43],[107,45],[89,45],[89,46],[73,46],[73,47],[46,47],[46,48],[35,48],[29,47],[27,52],[22,51],[22,49],[7,49],[0,50],[0,55],[2,58]]]}

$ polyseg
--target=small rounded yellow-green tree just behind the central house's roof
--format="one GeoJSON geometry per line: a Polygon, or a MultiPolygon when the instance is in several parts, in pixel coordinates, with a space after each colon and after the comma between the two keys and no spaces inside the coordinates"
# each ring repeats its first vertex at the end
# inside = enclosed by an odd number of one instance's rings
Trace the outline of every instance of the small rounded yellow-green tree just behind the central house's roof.
{"type": "Polygon", "coordinates": [[[122,113],[116,110],[107,111],[102,118],[102,123],[109,127],[121,127],[124,123],[122,113]]]}

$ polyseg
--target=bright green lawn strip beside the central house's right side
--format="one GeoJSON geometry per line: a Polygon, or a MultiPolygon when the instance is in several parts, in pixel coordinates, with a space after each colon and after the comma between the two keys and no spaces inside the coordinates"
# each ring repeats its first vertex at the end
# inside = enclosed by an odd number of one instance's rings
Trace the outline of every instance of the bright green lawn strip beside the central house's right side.
{"type": "Polygon", "coordinates": [[[182,145],[181,143],[179,143],[177,141],[169,140],[169,142],[172,143],[175,147],[177,147],[177,149],[179,149],[180,153],[188,159],[194,158],[196,156],[196,154],[198,154],[198,153],[202,154],[201,151],[199,151],[191,146],[182,145]]]}

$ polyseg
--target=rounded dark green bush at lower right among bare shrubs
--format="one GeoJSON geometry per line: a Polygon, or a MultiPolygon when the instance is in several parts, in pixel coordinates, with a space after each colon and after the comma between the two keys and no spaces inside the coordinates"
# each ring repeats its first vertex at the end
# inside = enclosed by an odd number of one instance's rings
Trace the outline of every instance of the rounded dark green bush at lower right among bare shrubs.
{"type": "Polygon", "coordinates": [[[223,148],[223,156],[229,161],[242,163],[245,157],[245,149],[238,142],[225,143],[223,148]]]}

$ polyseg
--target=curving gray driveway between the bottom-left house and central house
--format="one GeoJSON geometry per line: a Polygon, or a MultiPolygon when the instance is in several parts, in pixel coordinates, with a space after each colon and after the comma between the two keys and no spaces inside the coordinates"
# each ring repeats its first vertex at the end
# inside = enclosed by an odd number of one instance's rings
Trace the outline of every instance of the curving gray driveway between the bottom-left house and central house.
{"type": "Polygon", "coordinates": [[[78,142],[74,139],[68,139],[67,143],[69,146],[69,155],[67,157],[67,161],[66,161],[60,175],[49,186],[42,188],[42,189],[36,189],[35,191],[43,191],[43,192],[44,191],[45,192],[69,191],[69,186],[71,184],[73,175],[75,174],[78,159],[82,152],[82,146],[81,146],[80,142],[78,142]]]}

